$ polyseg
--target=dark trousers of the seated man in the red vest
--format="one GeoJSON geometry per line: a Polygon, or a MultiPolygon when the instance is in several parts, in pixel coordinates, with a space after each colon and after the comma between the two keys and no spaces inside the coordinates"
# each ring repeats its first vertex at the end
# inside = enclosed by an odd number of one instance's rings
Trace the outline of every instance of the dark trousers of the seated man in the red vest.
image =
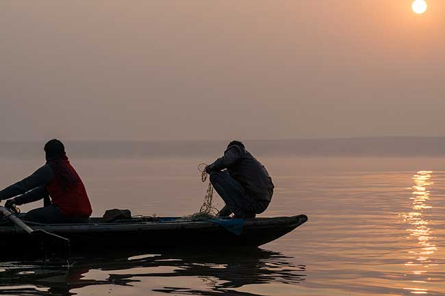
{"type": "Polygon", "coordinates": [[[74,217],[63,215],[60,209],[55,204],[44,206],[42,208],[35,208],[25,215],[25,220],[38,222],[42,224],[77,224],[89,223],[90,217],[74,217]]]}

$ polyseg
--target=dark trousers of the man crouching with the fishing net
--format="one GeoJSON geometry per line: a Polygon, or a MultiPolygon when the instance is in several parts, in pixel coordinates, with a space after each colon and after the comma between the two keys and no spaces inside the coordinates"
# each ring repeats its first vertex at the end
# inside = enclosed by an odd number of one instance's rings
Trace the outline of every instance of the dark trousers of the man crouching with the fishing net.
{"type": "MultiPolygon", "coordinates": [[[[223,198],[226,207],[229,208],[229,211],[226,212],[227,215],[234,213],[236,217],[240,218],[255,217],[255,214],[266,211],[269,205],[266,200],[256,200],[249,196],[240,183],[232,178],[227,171],[211,172],[210,183],[223,198]]],[[[223,211],[226,211],[227,208],[223,211]]]]}

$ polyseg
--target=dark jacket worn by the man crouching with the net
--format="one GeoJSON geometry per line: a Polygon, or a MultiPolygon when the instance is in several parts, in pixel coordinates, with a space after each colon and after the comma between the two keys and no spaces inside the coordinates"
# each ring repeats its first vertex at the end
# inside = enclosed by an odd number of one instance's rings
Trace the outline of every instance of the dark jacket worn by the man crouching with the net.
{"type": "Polygon", "coordinates": [[[270,202],[275,186],[266,167],[245,148],[232,145],[224,152],[224,156],[207,166],[207,172],[227,169],[230,176],[240,183],[247,194],[255,200],[270,202]]]}

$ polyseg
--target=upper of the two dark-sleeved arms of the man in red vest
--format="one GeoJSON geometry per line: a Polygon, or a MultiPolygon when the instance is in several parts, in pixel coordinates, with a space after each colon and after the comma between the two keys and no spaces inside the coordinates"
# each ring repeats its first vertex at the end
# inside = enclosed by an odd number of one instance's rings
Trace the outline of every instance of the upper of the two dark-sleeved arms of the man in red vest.
{"type": "Polygon", "coordinates": [[[14,196],[20,196],[36,187],[44,186],[49,183],[51,178],[53,178],[51,166],[43,165],[40,169],[36,170],[34,174],[31,174],[31,176],[0,191],[0,200],[8,200],[14,198],[14,196]]]}

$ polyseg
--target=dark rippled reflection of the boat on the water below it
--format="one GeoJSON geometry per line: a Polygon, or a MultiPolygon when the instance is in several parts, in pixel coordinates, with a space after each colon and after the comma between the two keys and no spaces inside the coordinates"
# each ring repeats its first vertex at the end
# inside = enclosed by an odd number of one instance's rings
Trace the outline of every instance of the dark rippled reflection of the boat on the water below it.
{"type": "Polygon", "coordinates": [[[87,287],[88,291],[92,286],[107,293],[110,287],[131,288],[140,282],[147,292],[245,295],[238,293],[236,288],[249,284],[292,285],[304,279],[304,265],[293,265],[289,257],[262,249],[237,250],[227,255],[208,250],[140,256],[107,254],[106,258],[75,258],[69,268],[66,265],[0,263],[0,295],[75,295],[78,289],[87,287]],[[196,280],[202,283],[199,287],[196,287],[196,280]],[[166,283],[168,287],[162,286],[166,283]]]}

